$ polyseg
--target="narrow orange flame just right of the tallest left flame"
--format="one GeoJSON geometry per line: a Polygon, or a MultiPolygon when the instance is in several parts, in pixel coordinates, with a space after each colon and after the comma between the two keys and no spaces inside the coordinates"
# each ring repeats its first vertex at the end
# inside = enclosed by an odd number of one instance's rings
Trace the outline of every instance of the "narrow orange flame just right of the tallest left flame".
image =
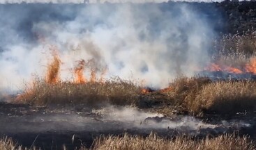
{"type": "Polygon", "coordinates": [[[82,59],[78,61],[75,67],[75,83],[86,83],[86,78],[84,77],[84,67],[85,61],[82,59]]]}

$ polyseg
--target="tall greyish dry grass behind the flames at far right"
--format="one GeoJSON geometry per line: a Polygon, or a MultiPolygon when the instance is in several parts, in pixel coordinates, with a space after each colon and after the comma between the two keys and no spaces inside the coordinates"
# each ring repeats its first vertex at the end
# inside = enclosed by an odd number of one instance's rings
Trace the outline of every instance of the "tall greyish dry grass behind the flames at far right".
{"type": "Polygon", "coordinates": [[[213,43],[212,62],[243,69],[256,56],[256,31],[223,35],[213,43]]]}

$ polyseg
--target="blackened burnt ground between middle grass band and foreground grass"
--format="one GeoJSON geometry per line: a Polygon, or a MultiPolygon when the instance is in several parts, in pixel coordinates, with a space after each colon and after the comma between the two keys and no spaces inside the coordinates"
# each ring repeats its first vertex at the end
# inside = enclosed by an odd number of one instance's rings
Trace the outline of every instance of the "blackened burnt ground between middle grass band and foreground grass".
{"type": "MultiPolygon", "coordinates": [[[[129,110],[132,112],[132,110],[129,110]]],[[[120,114],[121,112],[116,112],[120,114]]],[[[27,104],[0,103],[0,137],[8,136],[24,147],[42,149],[75,149],[81,144],[91,147],[93,139],[100,135],[149,135],[151,131],[160,137],[172,138],[174,135],[220,135],[238,131],[240,135],[256,138],[256,118],[241,116],[239,119],[211,120],[207,124],[193,117],[139,117],[133,119],[125,115],[110,118],[112,114],[95,113],[91,108],[48,108],[27,104]],[[123,118],[122,118],[123,117],[123,118]],[[72,140],[74,136],[74,141],[72,140]]]]}

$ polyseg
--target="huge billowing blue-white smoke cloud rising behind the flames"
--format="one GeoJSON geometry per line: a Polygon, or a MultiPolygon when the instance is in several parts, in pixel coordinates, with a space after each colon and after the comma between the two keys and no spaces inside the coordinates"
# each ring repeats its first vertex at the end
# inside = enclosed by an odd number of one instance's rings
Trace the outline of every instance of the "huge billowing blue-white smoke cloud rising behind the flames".
{"type": "MultiPolygon", "coordinates": [[[[48,2],[48,1],[45,1],[48,2]]],[[[165,87],[191,76],[209,60],[211,22],[193,6],[149,4],[1,5],[0,86],[17,90],[33,74],[44,76],[58,49],[61,79],[73,80],[79,60],[93,60],[106,77],[165,87]]],[[[89,68],[84,71],[89,76],[89,68]]]]}

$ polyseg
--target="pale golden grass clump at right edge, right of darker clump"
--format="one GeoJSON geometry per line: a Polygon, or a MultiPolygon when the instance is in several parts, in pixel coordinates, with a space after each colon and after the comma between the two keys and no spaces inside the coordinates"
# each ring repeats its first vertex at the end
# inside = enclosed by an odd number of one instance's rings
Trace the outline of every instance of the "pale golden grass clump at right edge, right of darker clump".
{"type": "Polygon", "coordinates": [[[211,110],[223,115],[254,111],[256,108],[256,83],[255,81],[221,81],[204,85],[195,101],[188,107],[195,112],[211,110]]]}

